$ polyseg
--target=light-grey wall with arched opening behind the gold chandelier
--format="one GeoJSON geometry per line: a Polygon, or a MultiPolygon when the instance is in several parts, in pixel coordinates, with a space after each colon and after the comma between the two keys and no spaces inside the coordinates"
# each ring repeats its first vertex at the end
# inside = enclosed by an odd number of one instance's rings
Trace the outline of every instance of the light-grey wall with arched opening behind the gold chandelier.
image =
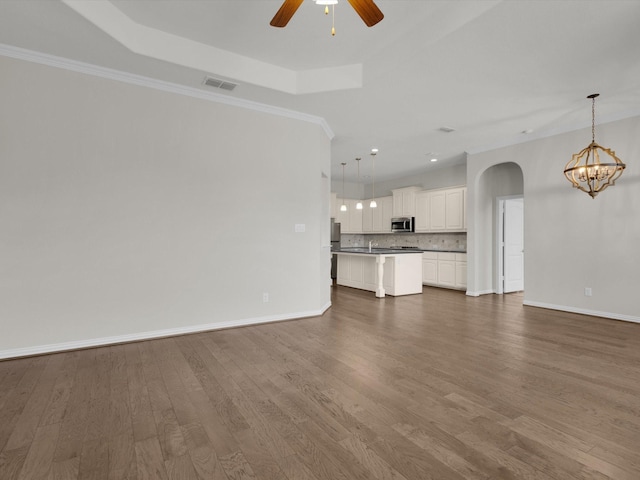
{"type": "Polygon", "coordinates": [[[470,293],[482,293],[491,278],[483,265],[493,234],[483,173],[514,162],[524,177],[525,304],[640,321],[640,117],[596,126],[596,141],[627,164],[596,199],[562,173],[590,140],[590,129],[582,129],[468,156],[470,293]]]}

